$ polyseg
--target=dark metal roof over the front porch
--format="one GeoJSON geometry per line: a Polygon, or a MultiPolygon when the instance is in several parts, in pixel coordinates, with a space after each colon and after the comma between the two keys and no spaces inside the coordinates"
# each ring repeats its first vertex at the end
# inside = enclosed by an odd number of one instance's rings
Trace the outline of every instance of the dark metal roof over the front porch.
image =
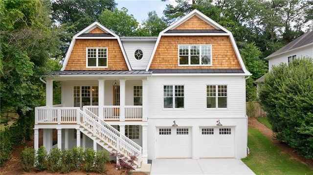
{"type": "Polygon", "coordinates": [[[133,70],[133,71],[53,71],[50,75],[151,75],[151,71],[133,70]]]}

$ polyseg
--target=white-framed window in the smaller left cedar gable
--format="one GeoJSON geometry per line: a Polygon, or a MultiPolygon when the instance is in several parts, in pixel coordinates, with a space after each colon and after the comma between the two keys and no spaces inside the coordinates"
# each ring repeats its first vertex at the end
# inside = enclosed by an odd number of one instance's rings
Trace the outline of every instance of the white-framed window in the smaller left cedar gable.
{"type": "Polygon", "coordinates": [[[87,67],[108,67],[108,48],[87,48],[87,67]]]}

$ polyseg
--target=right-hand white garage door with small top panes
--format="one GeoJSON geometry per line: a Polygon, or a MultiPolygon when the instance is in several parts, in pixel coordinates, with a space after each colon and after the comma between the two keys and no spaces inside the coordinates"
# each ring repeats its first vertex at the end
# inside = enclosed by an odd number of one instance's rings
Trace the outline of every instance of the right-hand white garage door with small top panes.
{"type": "Polygon", "coordinates": [[[232,127],[200,128],[200,157],[235,157],[235,130],[232,127]]]}

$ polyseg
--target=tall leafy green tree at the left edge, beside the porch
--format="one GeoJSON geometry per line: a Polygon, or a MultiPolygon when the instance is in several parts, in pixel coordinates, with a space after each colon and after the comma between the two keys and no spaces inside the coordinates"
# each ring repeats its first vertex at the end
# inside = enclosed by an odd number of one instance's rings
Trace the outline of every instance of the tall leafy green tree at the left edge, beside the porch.
{"type": "Polygon", "coordinates": [[[20,127],[20,138],[30,138],[33,108],[45,99],[39,77],[58,65],[50,58],[59,44],[56,31],[50,27],[50,5],[49,0],[1,1],[0,109],[1,115],[17,113],[15,125],[20,127]]]}

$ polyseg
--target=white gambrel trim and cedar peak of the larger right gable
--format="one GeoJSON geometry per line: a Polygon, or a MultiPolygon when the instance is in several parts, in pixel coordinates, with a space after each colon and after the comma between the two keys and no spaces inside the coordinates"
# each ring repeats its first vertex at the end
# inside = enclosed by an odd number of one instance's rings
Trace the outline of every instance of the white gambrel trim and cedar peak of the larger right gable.
{"type": "Polygon", "coordinates": [[[205,16],[198,10],[193,10],[192,12],[190,12],[183,18],[179,19],[178,21],[174,22],[172,25],[170,25],[169,27],[167,27],[166,29],[164,29],[162,32],[159,33],[158,38],[156,40],[156,46],[154,47],[154,50],[150,57],[146,71],[150,69],[150,66],[153,62],[153,58],[155,57],[156,50],[158,48],[158,44],[162,36],[186,36],[186,37],[227,36],[230,39],[230,44],[232,45],[234,54],[238,58],[239,65],[241,69],[244,71],[244,74],[246,76],[251,75],[249,71],[246,69],[246,66],[243,62],[243,59],[240,56],[235,39],[233,38],[231,32],[225,29],[223,26],[221,26],[217,22],[215,22],[214,20],[208,18],[207,16],[205,16]],[[193,22],[198,22],[197,27],[191,27],[190,30],[187,30],[186,27],[193,26],[193,22]],[[181,32],[179,32],[179,30],[181,32]]]}

